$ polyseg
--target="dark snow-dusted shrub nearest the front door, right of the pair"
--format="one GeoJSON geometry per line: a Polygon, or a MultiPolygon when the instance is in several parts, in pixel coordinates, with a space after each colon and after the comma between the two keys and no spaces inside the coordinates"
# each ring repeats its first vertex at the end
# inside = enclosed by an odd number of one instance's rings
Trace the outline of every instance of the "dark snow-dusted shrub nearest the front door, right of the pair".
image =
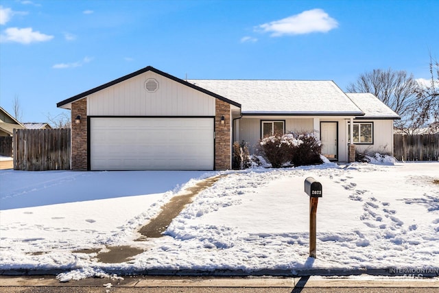
{"type": "Polygon", "coordinates": [[[296,148],[292,149],[291,163],[294,166],[321,164],[320,153],[322,143],[315,134],[309,132],[292,132],[295,139],[302,141],[296,148]]]}

